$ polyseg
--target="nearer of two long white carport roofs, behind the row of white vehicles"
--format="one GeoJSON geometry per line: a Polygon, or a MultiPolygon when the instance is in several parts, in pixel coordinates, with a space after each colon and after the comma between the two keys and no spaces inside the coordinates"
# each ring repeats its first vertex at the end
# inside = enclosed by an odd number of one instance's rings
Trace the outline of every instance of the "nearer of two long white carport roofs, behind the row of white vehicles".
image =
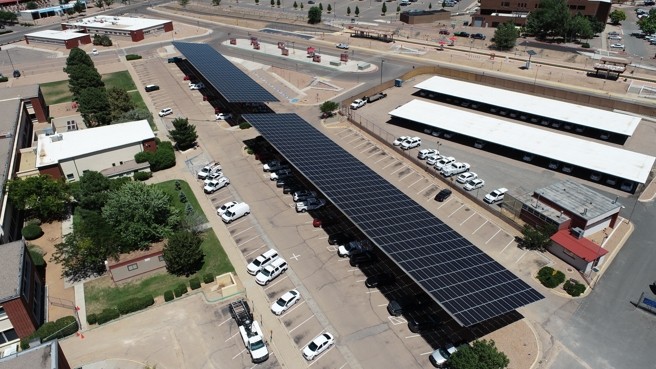
{"type": "Polygon", "coordinates": [[[653,156],[421,100],[412,100],[389,114],[638,183],[647,181],[656,160],[653,156]]]}

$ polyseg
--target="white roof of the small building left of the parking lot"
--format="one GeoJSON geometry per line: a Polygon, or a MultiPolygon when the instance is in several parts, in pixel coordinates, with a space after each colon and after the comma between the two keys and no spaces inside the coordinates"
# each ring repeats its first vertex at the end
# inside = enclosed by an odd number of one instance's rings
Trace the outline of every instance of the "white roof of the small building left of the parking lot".
{"type": "Polygon", "coordinates": [[[118,148],[154,138],[147,120],[118,123],[80,131],[39,135],[36,167],[57,164],[62,160],[118,148]]]}

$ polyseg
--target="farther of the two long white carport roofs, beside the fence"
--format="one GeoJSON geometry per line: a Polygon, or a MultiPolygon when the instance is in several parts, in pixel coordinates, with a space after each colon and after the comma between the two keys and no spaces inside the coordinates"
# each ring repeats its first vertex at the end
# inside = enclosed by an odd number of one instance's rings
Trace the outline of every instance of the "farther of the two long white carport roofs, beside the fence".
{"type": "Polygon", "coordinates": [[[415,88],[456,96],[461,99],[479,101],[545,118],[597,128],[625,136],[633,135],[640,118],[608,110],[547,99],[521,92],[476,83],[463,82],[444,77],[432,77],[415,85],[415,88]]]}

